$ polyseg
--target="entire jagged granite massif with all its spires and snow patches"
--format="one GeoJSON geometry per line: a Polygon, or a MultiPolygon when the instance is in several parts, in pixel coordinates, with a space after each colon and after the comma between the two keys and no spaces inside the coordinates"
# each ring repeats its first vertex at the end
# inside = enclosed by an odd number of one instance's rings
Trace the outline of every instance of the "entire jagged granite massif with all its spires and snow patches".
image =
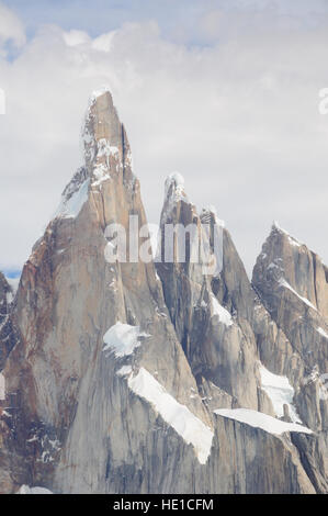
{"type": "Polygon", "coordinates": [[[328,492],[325,266],[275,228],[251,284],[177,173],[154,259],[109,91],[82,135],[14,301],[0,276],[0,492],[328,492]]]}

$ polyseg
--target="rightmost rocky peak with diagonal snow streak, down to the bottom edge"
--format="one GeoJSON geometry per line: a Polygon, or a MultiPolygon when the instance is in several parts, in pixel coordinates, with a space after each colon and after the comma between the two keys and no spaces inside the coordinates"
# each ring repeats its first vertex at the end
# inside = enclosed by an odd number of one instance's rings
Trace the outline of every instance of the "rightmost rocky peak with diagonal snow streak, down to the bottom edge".
{"type": "MultiPolygon", "coordinates": [[[[295,388],[297,412],[316,435],[294,441],[319,492],[327,492],[328,469],[327,279],[320,258],[275,223],[257,260],[252,283],[297,356],[297,366],[284,369],[295,388]]],[[[265,347],[263,341],[260,345],[265,347]]],[[[271,350],[274,357],[280,352],[281,348],[271,350]]],[[[285,356],[289,361],[290,347],[285,356]]]]}

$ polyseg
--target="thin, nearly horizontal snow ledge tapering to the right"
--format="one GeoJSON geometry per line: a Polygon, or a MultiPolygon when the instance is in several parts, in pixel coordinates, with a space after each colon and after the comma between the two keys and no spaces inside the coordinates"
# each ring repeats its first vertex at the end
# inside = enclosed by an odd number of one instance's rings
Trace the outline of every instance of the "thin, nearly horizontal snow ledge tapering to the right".
{"type": "Polygon", "coordinates": [[[275,417],[268,416],[261,412],[251,408],[218,408],[214,414],[235,419],[239,423],[246,423],[253,428],[261,428],[269,434],[281,435],[286,431],[299,431],[302,434],[313,434],[306,426],[296,423],[285,423],[275,417]]]}

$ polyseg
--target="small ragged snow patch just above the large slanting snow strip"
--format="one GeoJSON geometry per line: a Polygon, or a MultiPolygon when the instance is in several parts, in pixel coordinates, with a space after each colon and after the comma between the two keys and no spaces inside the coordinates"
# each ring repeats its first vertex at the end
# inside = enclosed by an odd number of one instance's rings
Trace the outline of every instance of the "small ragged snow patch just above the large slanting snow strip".
{"type": "Polygon", "coordinates": [[[139,326],[131,326],[118,321],[105,333],[103,351],[113,350],[115,357],[132,355],[135,348],[140,346],[140,337],[150,337],[150,335],[140,333],[139,326]]]}

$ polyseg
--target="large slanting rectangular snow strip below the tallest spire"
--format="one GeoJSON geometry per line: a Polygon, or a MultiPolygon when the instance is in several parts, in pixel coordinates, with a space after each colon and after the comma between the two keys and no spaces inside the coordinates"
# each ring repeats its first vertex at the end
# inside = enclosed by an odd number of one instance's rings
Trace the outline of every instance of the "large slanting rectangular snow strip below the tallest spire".
{"type": "Polygon", "coordinates": [[[144,368],[127,380],[129,389],[146,400],[184,439],[194,447],[201,464],[205,464],[211,452],[213,431],[185,405],[177,402],[166,389],[144,368]]]}

